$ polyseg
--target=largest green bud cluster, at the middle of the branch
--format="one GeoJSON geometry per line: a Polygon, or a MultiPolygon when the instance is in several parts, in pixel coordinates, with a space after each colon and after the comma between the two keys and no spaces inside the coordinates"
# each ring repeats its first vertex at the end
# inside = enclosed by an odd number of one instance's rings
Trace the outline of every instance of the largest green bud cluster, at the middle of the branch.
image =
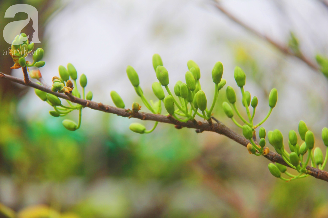
{"type": "MultiPolygon", "coordinates": [[[[135,92],[140,96],[144,105],[154,114],[161,114],[162,107],[161,102],[163,101],[164,107],[168,112],[168,115],[172,115],[176,120],[181,122],[188,122],[194,120],[195,116],[198,115],[206,120],[211,119],[212,111],[215,106],[215,102],[218,97],[218,92],[226,84],[226,81],[222,79],[223,65],[221,62],[217,62],[212,70],[212,79],[214,82],[214,99],[211,107],[207,107],[207,98],[205,92],[201,90],[200,85],[200,69],[198,65],[190,60],[187,63],[188,71],[185,74],[185,83],[178,81],[174,85],[174,94],[172,94],[168,87],[169,73],[168,70],[163,66],[161,57],[158,54],[153,56],[153,67],[156,73],[158,82],[152,84],[152,90],[154,95],[158,99],[157,101],[148,101],[143,95],[143,91],[140,87],[139,76],[132,66],[128,66],[126,69],[128,78],[131,84],[134,86],[135,92]],[[163,87],[167,91],[165,95],[163,87]],[[198,109],[200,112],[198,112],[198,109]]],[[[119,94],[115,91],[111,92],[111,97],[116,107],[124,108],[125,104],[119,94]]],[[[139,104],[133,103],[132,113],[137,113],[140,110],[139,104]]],[[[157,126],[155,122],[154,127],[151,130],[146,130],[142,124],[132,123],[130,129],[133,132],[144,134],[151,133],[157,126]]]]}

